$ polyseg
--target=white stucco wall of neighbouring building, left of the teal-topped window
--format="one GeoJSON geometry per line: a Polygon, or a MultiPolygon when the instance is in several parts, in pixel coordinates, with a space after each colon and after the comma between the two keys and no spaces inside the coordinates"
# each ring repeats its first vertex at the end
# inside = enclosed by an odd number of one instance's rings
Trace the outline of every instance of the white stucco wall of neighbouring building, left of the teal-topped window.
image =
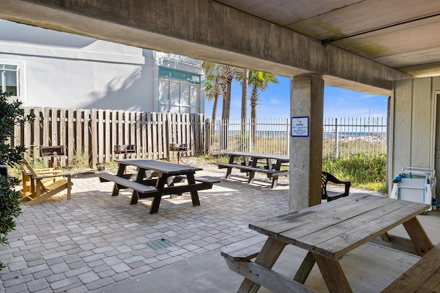
{"type": "Polygon", "coordinates": [[[0,20],[6,62],[20,66],[23,106],[158,109],[151,50],[0,20]]]}

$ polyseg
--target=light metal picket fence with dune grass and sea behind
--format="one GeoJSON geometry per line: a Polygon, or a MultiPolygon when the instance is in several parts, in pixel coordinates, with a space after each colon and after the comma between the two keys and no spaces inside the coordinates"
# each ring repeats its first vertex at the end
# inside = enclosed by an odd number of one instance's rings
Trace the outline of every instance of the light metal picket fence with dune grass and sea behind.
{"type": "MultiPolygon", "coordinates": [[[[289,154],[290,121],[285,118],[230,119],[210,127],[210,154],[257,152],[289,154]]],[[[386,154],[383,118],[325,119],[322,155],[345,158],[350,154],[386,154]]]]}

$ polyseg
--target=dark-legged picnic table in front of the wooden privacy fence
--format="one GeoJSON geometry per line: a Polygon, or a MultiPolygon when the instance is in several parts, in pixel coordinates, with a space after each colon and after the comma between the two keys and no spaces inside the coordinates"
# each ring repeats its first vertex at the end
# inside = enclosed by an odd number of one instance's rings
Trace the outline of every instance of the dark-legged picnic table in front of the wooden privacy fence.
{"type": "Polygon", "coordinates": [[[195,177],[195,172],[202,170],[200,167],[146,159],[115,161],[118,162],[118,172],[116,175],[108,173],[98,173],[96,175],[100,177],[101,182],[114,182],[112,196],[118,196],[120,189],[133,189],[130,204],[137,204],[137,200],[142,198],[153,198],[150,213],[157,213],[162,196],[180,195],[184,192],[190,192],[192,205],[199,206],[198,191],[210,189],[213,183],[219,183],[219,180],[195,177]],[[135,166],[137,172],[135,174],[126,174],[127,166],[135,166]],[[129,180],[132,176],[135,176],[134,180],[129,180]],[[186,180],[186,184],[175,185],[175,183],[183,180],[186,180]]]}

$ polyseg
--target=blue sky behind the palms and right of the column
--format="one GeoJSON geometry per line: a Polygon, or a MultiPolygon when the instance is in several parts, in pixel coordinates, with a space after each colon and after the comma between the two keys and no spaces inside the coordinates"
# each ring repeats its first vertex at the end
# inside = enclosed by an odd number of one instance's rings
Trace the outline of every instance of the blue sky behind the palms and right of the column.
{"type": "MultiPolygon", "coordinates": [[[[278,76],[278,84],[270,84],[269,89],[260,93],[260,103],[256,115],[261,118],[290,117],[290,79],[278,76]]],[[[249,101],[249,100],[248,100],[249,101]]],[[[217,108],[217,119],[221,117],[221,97],[217,108]]],[[[386,117],[388,97],[358,93],[332,86],[325,86],[324,117],[386,117]]],[[[205,100],[205,113],[211,117],[212,102],[205,100]]],[[[232,83],[230,118],[240,118],[241,86],[232,83]]],[[[248,102],[248,117],[250,106],[248,102]]]]}

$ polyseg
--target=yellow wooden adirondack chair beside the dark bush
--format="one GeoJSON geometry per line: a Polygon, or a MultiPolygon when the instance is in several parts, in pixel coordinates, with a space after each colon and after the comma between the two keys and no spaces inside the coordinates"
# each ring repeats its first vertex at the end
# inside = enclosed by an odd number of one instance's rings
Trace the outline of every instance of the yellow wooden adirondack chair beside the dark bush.
{"type": "Polygon", "coordinates": [[[39,204],[47,198],[61,193],[67,189],[67,200],[70,200],[70,191],[72,189],[72,175],[62,174],[59,170],[52,168],[37,169],[32,168],[30,163],[23,159],[23,197],[30,199],[25,205],[39,204]],[[25,173],[28,172],[28,173],[25,173]],[[25,182],[24,180],[28,180],[25,182]]]}

